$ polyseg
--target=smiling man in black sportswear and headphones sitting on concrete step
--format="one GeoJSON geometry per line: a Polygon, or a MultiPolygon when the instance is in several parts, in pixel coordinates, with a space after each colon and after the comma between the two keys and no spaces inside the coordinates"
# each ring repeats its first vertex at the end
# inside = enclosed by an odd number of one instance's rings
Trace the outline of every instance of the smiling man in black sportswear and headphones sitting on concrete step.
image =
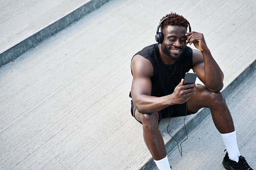
{"type": "MultiPolygon", "coordinates": [[[[157,167],[170,169],[163,138],[158,129],[161,118],[185,116],[210,108],[227,153],[226,169],[252,169],[239,153],[233,120],[220,90],[224,75],[213,59],[204,36],[189,32],[189,22],[176,13],[162,18],[158,44],[145,47],[131,61],[133,75],[131,113],[142,123],[143,137],[157,167]],[[192,50],[187,43],[199,50],[192,50]],[[204,85],[182,85],[185,73],[193,69],[204,85]]],[[[158,29],[159,29],[158,26],[158,29]]]]}

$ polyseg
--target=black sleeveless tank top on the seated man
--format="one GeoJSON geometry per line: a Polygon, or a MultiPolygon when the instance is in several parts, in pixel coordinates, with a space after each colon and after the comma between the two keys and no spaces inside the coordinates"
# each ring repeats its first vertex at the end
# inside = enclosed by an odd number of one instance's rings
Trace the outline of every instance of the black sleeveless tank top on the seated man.
{"type": "Polygon", "coordinates": [[[189,72],[193,67],[193,51],[190,47],[185,48],[182,59],[173,65],[165,65],[161,61],[158,44],[145,47],[135,55],[145,57],[153,66],[151,96],[161,97],[172,94],[175,87],[184,78],[185,73],[189,72]]]}

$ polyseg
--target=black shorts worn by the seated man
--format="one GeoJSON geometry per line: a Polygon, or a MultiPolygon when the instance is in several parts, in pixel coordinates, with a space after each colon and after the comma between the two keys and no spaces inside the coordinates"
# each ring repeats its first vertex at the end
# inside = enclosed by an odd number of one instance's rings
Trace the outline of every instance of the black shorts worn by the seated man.
{"type": "MultiPolygon", "coordinates": [[[[135,106],[131,100],[131,114],[132,116],[135,118],[135,106]]],[[[196,113],[196,112],[195,112],[196,113]]],[[[175,105],[171,105],[168,106],[162,110],[158,111],[159,114],[159,120],[158,120],[158,124],[161,121],[161,119],[163,118],[168,118],[168,117],[180,117],[180,116],[186,116],[186,115],[190,115],[190,114],[195,114],[195,113],[191,113],[188,110],[187,107],[187,102],[183,103],[183,104],[175,104],[175,105]]],[[[135,118],[136,119],[136,118],[135,118]]],[[[136,119],[137,120],[137,119],[136,119]]],[[[137,120],[138,121],[138,120],[137,120]]],[[[140,121],[138,121],[140,122],[140,121]]],[[[141,122],[140,122],[141,123],[141,122]]],[[[142,123],[141,123],[142,124],[142,123]]]]}

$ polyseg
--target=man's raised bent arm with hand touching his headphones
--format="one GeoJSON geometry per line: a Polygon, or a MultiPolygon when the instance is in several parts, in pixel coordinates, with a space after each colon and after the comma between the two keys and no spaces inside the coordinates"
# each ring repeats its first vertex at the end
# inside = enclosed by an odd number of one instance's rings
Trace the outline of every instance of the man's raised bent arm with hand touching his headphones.
{"type": "Polygon", "coordinates": [[[224,74],[208,49],[203,34],[197,32],[187,33],[188,42],[200,50],[193,50],[193,71],[204,85],[213,92],[223,88],[224,74]]]}

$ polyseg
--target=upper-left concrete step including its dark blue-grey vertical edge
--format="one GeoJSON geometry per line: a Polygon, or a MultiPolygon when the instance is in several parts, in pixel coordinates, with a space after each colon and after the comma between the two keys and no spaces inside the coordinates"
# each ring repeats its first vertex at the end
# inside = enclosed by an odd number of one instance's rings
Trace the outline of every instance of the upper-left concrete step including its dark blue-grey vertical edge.
{"type": "Polygon", "coordinates": [[[0,67],[108,1],[1,1],[0,67]]]}

